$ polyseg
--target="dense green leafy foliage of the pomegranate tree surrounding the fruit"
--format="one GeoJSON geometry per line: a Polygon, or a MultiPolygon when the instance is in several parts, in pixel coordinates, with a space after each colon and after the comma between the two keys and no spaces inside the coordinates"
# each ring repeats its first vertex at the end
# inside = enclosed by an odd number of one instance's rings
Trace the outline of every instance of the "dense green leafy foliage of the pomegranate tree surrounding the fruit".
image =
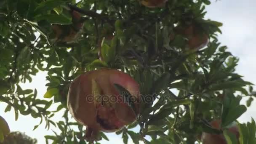
{"type": "MultiPolygon", "coordinates": [[[[61,133],[45,136],[54,144],[85,144],[83,126],[69,120],[69,84],[84,71],[107,67],[133,76],[142,98],[150,98],[137,122],[116,132],[125,144],[128,136],[135,144],[192,144],[203,131],[220,133],[208,122],[221,119],[225,128],[246,111],[240,100],[249,97],[249,107],[256,94],[252,83],[235,72],[238,59],[216,38],[221,23],[204,19],[210,3],[168,0],[163,8],[147,8],[139,0],[82,0],[77,7],[74,0],[0,1],[0,102],[8,104],[5,112],[14,109],[16,120],[20,114],[29,115],[41,119],[38,125],[45,120],[45,128],[57,126],[61,133]],[[72,23],[67,8],[87,18],[83,31],[75,42],[54,43],[51,24],[72,23]],[[177,25],[189,24],[209,35],[205,48],[189,49],[187,38],[175,31],[177,25]],[[109,42],[103,41],[101,61],[99,43],[112,33],[109,42]],[[48,99],[19,85],[31,82],[39,71],[48,72],[48,99]],[[59,104],[56,111],[48,110],[52,104],[59,104]],[[53,122],[51,117],[61,109],[63,120],[53,122]],[[130,130],[136,126],[139,132],[130,130]]],[[[250,125],[240,126],[241,141],[251,136],[248,131],[255,131],[255,123],[250,125]]],[[[107,139],[104,133],[100,136],[107,139]]]]}

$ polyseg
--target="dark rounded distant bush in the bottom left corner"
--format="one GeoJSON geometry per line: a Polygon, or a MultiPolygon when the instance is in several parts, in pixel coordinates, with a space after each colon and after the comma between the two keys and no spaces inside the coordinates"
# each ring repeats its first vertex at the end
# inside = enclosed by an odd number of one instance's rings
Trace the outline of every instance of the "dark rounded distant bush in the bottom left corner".
{"type": "Polygon", "coordinates": [[[14,131],[5,137],[3,144],[37,144],[37,140],[32,139],[25,133],[14,131]]]}

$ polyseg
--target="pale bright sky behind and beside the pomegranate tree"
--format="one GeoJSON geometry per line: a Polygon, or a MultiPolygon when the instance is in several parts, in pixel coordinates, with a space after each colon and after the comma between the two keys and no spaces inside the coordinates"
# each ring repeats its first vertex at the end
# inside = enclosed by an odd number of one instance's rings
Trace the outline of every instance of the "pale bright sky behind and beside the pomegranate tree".
{"type": "MultiPolygon", "coordinates": [[[[211,0],[212,4],[206,7],[207,19],[220,21],[224,25],[221,27],[222,35],[219,35],[219,41],[222,45],[227,45],[228,50],[232,52],[234,56],[240,58],[237,66],[237,73],[244,76],[245,80],[248,80],[256,84],[256,53],[255,48],[255,34],[256,34],[256,0],[211,0]]],[[[43,94],[46,91],[45,80],[46,72],[39,72],[37,76],[32,77],[32,83],[22,84],[22,88],[37,88],[38,97],[43,98],[43,94]]],[[[255,88],[255,87],[254,87],[255,88]]],[[[242,99],[242,104],[245,104],[246,99],[242,99]]],[[[19,115],[19,119],[15,121],[14,111],[4,112],[6,104],[0,103],[0,115],[8,122],[11,131],[25,132],[32,138],[36,138],[38,144],[45,144],[45,135],[51,135],[51,130],[46,130],[44,125],[40,125],[35,131],[32,131],[34,125],[40,122],[40,119],[34,119],[30,115],[19,115]]],[[[247,112],[243,114],[238,120],[240,122],[247,122],[253,117],[256,120],[256,100],[247,112]]],[[[56,107],[52,107],[55,109],[56,107]]],[[[61,114],[54,117],[56,121],[61,119],[61,114]]],[[[56,130],[56,128],[53,128],[56,130]]],[[[101,141],[101,144],[122,144],[120,136],[116,136],[115,133],[107,133],[110,141],[101,141]]],[[[131,140],[128,142],[133,144],[131,140]]]]}

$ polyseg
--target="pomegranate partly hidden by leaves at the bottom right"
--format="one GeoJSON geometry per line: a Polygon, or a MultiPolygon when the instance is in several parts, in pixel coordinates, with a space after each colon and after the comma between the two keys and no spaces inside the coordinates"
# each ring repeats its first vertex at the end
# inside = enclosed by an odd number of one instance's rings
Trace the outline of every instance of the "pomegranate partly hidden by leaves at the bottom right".
{"type": "MultiPolygon", "coordinates": [[[[220,123],[221,123],[221,120],[213,120],[211,122],[211,125],[213,128],[221,129],[220,123]]],[[[228,130],[231,133],[235,134],[235,136],[237,137],[237,141],[238,141],[239,129],[238,129],[237,123],[234,122],[232,125],[230,125],[228,130]]],[[[202,138],[201,140],[202,140],[203,144],[227,144],[227,141],[226,141],[225,137],[223,136],[223,134],[211,134],[211,133],[203,132],[201,138],[202,138]]]]}

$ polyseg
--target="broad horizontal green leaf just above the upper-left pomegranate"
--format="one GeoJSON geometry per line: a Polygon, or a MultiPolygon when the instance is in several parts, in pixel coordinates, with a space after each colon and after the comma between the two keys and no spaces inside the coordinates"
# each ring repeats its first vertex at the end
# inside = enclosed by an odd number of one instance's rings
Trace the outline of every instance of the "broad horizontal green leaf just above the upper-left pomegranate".
{"type": "Polygon", "coordinates": [[[64,15],[57,15],[57,14],[45,14],[35,17],[36,21],[46,20],[51,24],[72,24],[72,19],[64,16],[64,15]]]}

